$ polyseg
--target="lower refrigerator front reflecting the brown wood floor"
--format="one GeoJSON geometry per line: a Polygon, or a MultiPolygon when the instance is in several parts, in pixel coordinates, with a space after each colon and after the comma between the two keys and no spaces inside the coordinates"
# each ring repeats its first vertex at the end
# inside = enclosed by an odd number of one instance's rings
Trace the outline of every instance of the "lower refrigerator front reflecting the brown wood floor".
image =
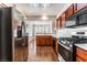
{"type": "Polygon", "coordinates": [[[14,62],[25,62],[28,59],[26,47],[15,47],[14,50],[14,62]]]}

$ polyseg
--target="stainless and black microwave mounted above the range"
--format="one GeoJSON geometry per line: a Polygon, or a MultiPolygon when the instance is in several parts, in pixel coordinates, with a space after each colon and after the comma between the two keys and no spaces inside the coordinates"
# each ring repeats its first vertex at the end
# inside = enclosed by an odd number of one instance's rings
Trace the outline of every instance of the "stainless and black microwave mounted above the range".
{"type": "Polygon", "coordinates": [[[79,25],[86,25],[87,24],[87,13],[73,17],[72,19],[66,20],[66,26],[79,26],[79,25]]]}

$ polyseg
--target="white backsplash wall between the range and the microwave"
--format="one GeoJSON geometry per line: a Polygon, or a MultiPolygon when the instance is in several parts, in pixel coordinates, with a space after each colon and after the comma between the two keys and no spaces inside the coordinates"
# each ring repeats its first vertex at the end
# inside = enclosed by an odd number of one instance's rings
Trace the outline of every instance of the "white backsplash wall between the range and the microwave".
{"type": "Polygon", "coordinates": [[[72,37],[73,34],[75,34],[75,32],[85,32],[87,35],[87,26],[84,28],[76,28],[76,29],[62,29],[62,30],[57,30],[56,31],[56,35],[58,35],[59,37],[72,37]]]}

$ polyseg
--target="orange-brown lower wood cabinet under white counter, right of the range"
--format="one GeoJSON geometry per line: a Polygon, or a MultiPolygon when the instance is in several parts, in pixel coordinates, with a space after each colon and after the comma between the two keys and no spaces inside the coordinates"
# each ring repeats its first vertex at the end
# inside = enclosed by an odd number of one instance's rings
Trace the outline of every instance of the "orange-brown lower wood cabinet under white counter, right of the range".
{"type": "Polygon", "coordinates": [[[87,51],[76,47],[76,62],[87,62],[87,51]]]}

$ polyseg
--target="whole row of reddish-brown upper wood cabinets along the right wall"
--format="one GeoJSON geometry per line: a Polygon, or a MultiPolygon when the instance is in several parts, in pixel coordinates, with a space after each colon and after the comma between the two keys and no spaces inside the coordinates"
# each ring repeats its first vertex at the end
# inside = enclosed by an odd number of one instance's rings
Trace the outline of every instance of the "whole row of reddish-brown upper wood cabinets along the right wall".
{"type": "MultiPolygon", "coordinates": [[[[70,17],[78,12],[79,10],[87,7],[87,3],[73,3],[59,18],[56,19],[56,24],[54,22],[54,29],[57,30],[65,28],[66,20],[70,19],[70,17]]],[[[77,14],[76,14],[77,15],[77,14]]]]}

